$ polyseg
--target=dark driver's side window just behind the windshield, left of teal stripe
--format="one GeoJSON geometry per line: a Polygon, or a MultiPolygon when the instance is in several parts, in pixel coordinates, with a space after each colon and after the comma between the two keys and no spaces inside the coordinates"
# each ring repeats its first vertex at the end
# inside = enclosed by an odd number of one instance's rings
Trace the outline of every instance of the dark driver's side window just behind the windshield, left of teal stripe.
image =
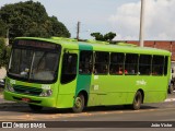
{"type": "Polygon", "coordinates": [[[61,83],[73,81],[77,76],[77,53],[65,53],[62,58],[61,83]]]}

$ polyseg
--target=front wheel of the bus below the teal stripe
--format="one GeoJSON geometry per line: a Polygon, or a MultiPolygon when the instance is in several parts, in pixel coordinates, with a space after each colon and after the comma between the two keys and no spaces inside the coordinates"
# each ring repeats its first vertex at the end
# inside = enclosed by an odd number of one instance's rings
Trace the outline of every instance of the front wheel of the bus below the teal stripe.
{"type": "Polygon", "coordinates": [[[80,94],[74,99],[73,112],[82,112],[84,109],[84,95],[80,94]]]}

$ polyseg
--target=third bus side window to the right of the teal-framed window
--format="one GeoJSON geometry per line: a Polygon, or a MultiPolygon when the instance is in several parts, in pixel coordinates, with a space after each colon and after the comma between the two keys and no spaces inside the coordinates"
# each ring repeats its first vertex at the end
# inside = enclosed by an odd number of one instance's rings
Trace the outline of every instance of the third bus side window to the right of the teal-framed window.
{"type": "Polygon", "coordinates": [[[127,74],[138,74],[138,55],[126,53],[125,70],[127,74]]]}

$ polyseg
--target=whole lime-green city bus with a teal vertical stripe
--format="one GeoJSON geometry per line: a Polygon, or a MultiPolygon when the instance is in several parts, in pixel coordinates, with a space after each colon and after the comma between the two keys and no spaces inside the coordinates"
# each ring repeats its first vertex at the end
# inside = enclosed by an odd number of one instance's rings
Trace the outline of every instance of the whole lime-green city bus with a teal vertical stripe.
{"type": "Polygon", "coordinates": [[[4,99],[31,109],[160,103],[167,96],[171,52],[120,43],[19,37],[12,45],[4,99]]]}

